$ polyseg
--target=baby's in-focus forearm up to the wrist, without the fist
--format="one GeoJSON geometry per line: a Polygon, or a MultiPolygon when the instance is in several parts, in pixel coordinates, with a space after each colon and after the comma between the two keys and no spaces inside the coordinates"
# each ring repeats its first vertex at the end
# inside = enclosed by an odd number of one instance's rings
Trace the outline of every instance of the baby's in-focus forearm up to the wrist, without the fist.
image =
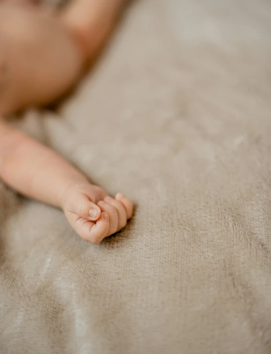
{"type": "Polygon", "coordinates": [[[0,178],[16,191],[56,207],[61,207],[69,185],[87,180],[46,146],[1,124],[0,178]]]}

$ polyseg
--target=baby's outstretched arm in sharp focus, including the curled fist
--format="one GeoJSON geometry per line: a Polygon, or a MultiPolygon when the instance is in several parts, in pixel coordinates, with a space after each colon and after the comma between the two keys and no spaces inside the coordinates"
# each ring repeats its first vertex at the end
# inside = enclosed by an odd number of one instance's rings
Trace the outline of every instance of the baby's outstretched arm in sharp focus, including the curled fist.
{"type": "Polygon", "coordinates": [[[30,198],[62,208],[80,237],[93,243],[119,231],[132,214],[125,195],[111,198],[55,152],[1,120],[0,178],[30,198]]]}

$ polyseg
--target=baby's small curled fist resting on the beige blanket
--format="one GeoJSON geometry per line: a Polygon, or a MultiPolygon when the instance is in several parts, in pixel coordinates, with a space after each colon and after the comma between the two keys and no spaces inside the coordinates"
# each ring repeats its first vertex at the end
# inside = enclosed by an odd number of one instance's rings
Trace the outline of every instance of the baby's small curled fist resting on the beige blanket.
{"type": "Polygon", "coordinates": [[[131,201],[122,193],[111,198],[90,183],[70,186],[62,198],[65,216],[79,234],[92,243],[121,230],[132,216],[131,201]]]}

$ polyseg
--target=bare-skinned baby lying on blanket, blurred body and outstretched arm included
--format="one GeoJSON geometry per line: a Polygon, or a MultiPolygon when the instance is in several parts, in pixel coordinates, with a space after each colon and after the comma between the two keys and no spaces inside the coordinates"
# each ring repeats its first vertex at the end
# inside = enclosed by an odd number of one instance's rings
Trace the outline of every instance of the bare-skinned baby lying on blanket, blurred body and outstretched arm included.
{"type": "Polygon", "coordinates": [[[27,0],[0,1],[0,17],[4,12],[4,18],[10,18],[6,25],[0,22],[0,47],[7,49],[0,71],[0,178],[25,196],[63,209],[78,235],[93,243],[127,224],[131,201],[122,193],[112,198],[54,151],[12,128],[4,117],[47,104],[72,87],[109,34],[121,2],[112,0],[107,6],[107,0],[77,0],[57,17],[27,0]],[[14,18],[14,26],[23,30],[11,25],[14,18]],[[27,22],[27,29],[20,21],[27,22]],[[29,31],[29,36],[22,31],[29,31]],[[48,46],[51,36],[54,45],[48,46]],[[27,63],[27,53],[32,64],[27,63]],[[38,59],[42,64],[36,63],[38,59]]]}

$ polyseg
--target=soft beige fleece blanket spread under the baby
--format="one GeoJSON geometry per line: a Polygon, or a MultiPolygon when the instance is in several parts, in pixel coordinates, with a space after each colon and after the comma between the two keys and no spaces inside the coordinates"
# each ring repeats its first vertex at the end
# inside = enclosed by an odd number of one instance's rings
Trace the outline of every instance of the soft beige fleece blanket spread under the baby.
{"type": "Polygon", "coordinates": [[[271,2],[135,2],[21,128],[136,204],[82,241],[0,184],[0,354],[271,353],[271,2]]]}

